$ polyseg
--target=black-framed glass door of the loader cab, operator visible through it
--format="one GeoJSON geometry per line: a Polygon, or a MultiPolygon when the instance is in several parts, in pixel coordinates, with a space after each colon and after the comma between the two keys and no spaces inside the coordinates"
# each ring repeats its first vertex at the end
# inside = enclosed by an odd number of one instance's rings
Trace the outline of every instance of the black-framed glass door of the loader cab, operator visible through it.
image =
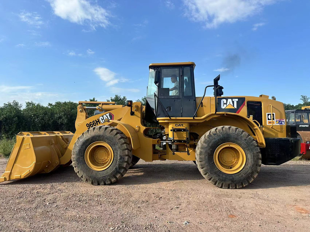
{"type": "Polygon", "coordinates": [[[161,67],[157,118],[182,117],[181,67],[161,67]]]}

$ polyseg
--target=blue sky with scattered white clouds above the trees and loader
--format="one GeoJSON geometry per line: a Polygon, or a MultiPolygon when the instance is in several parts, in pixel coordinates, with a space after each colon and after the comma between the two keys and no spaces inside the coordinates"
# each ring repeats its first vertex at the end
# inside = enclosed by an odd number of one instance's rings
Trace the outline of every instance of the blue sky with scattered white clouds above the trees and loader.
{"type": "Polygon", "coordinates": [[[310,1],[2,0],[0,104],[146,94],[148,65],[196,63],[196,95],[308,95],[310,1]],[[211,95],[211,92],[208,93],[211,95]]]}

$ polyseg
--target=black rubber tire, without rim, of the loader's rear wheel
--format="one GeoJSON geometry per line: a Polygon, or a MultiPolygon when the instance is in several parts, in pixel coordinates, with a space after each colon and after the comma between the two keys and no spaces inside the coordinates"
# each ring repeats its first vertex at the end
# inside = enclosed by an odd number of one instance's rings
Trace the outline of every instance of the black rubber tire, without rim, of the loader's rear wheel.
{"type": "Polygon", "coordinates": [[[237,127],[215,127],[201,137],[196,147],[196,161],[200,173],[220,188],[247,186],[257,177],[261,160],[262,155],[257,142],[246,131],[237,127]],[[218,164],[215,164],[216,151],[223,144],[235,144],[244,152],[245,163],[237,173],[224,173],[217,167],[218,164]]]}

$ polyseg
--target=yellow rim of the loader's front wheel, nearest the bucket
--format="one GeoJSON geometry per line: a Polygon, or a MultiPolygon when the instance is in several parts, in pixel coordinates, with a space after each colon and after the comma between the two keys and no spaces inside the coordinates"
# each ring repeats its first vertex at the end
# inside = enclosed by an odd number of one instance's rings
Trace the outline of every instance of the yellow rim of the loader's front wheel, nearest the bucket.
{"type": "Polygon", "coordinates": [[[85,151],[86,164],[95,171],[107,169],[112,164],[113,157],[111,146],[101,141],[92,143],[85,151]]]}

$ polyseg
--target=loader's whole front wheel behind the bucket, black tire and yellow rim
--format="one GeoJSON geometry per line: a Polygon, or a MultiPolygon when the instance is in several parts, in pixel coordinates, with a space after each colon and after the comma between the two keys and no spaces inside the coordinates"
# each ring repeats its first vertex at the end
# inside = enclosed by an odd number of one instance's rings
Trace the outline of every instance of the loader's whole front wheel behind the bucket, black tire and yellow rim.
{"type": "Polygon", "coordinates": [[[74,171],[93,185],[107,185],[121,179],[131,159],[131,145],[126,135],[110,126],[88,129],[78,137],[72,149],[74,171]]]}

